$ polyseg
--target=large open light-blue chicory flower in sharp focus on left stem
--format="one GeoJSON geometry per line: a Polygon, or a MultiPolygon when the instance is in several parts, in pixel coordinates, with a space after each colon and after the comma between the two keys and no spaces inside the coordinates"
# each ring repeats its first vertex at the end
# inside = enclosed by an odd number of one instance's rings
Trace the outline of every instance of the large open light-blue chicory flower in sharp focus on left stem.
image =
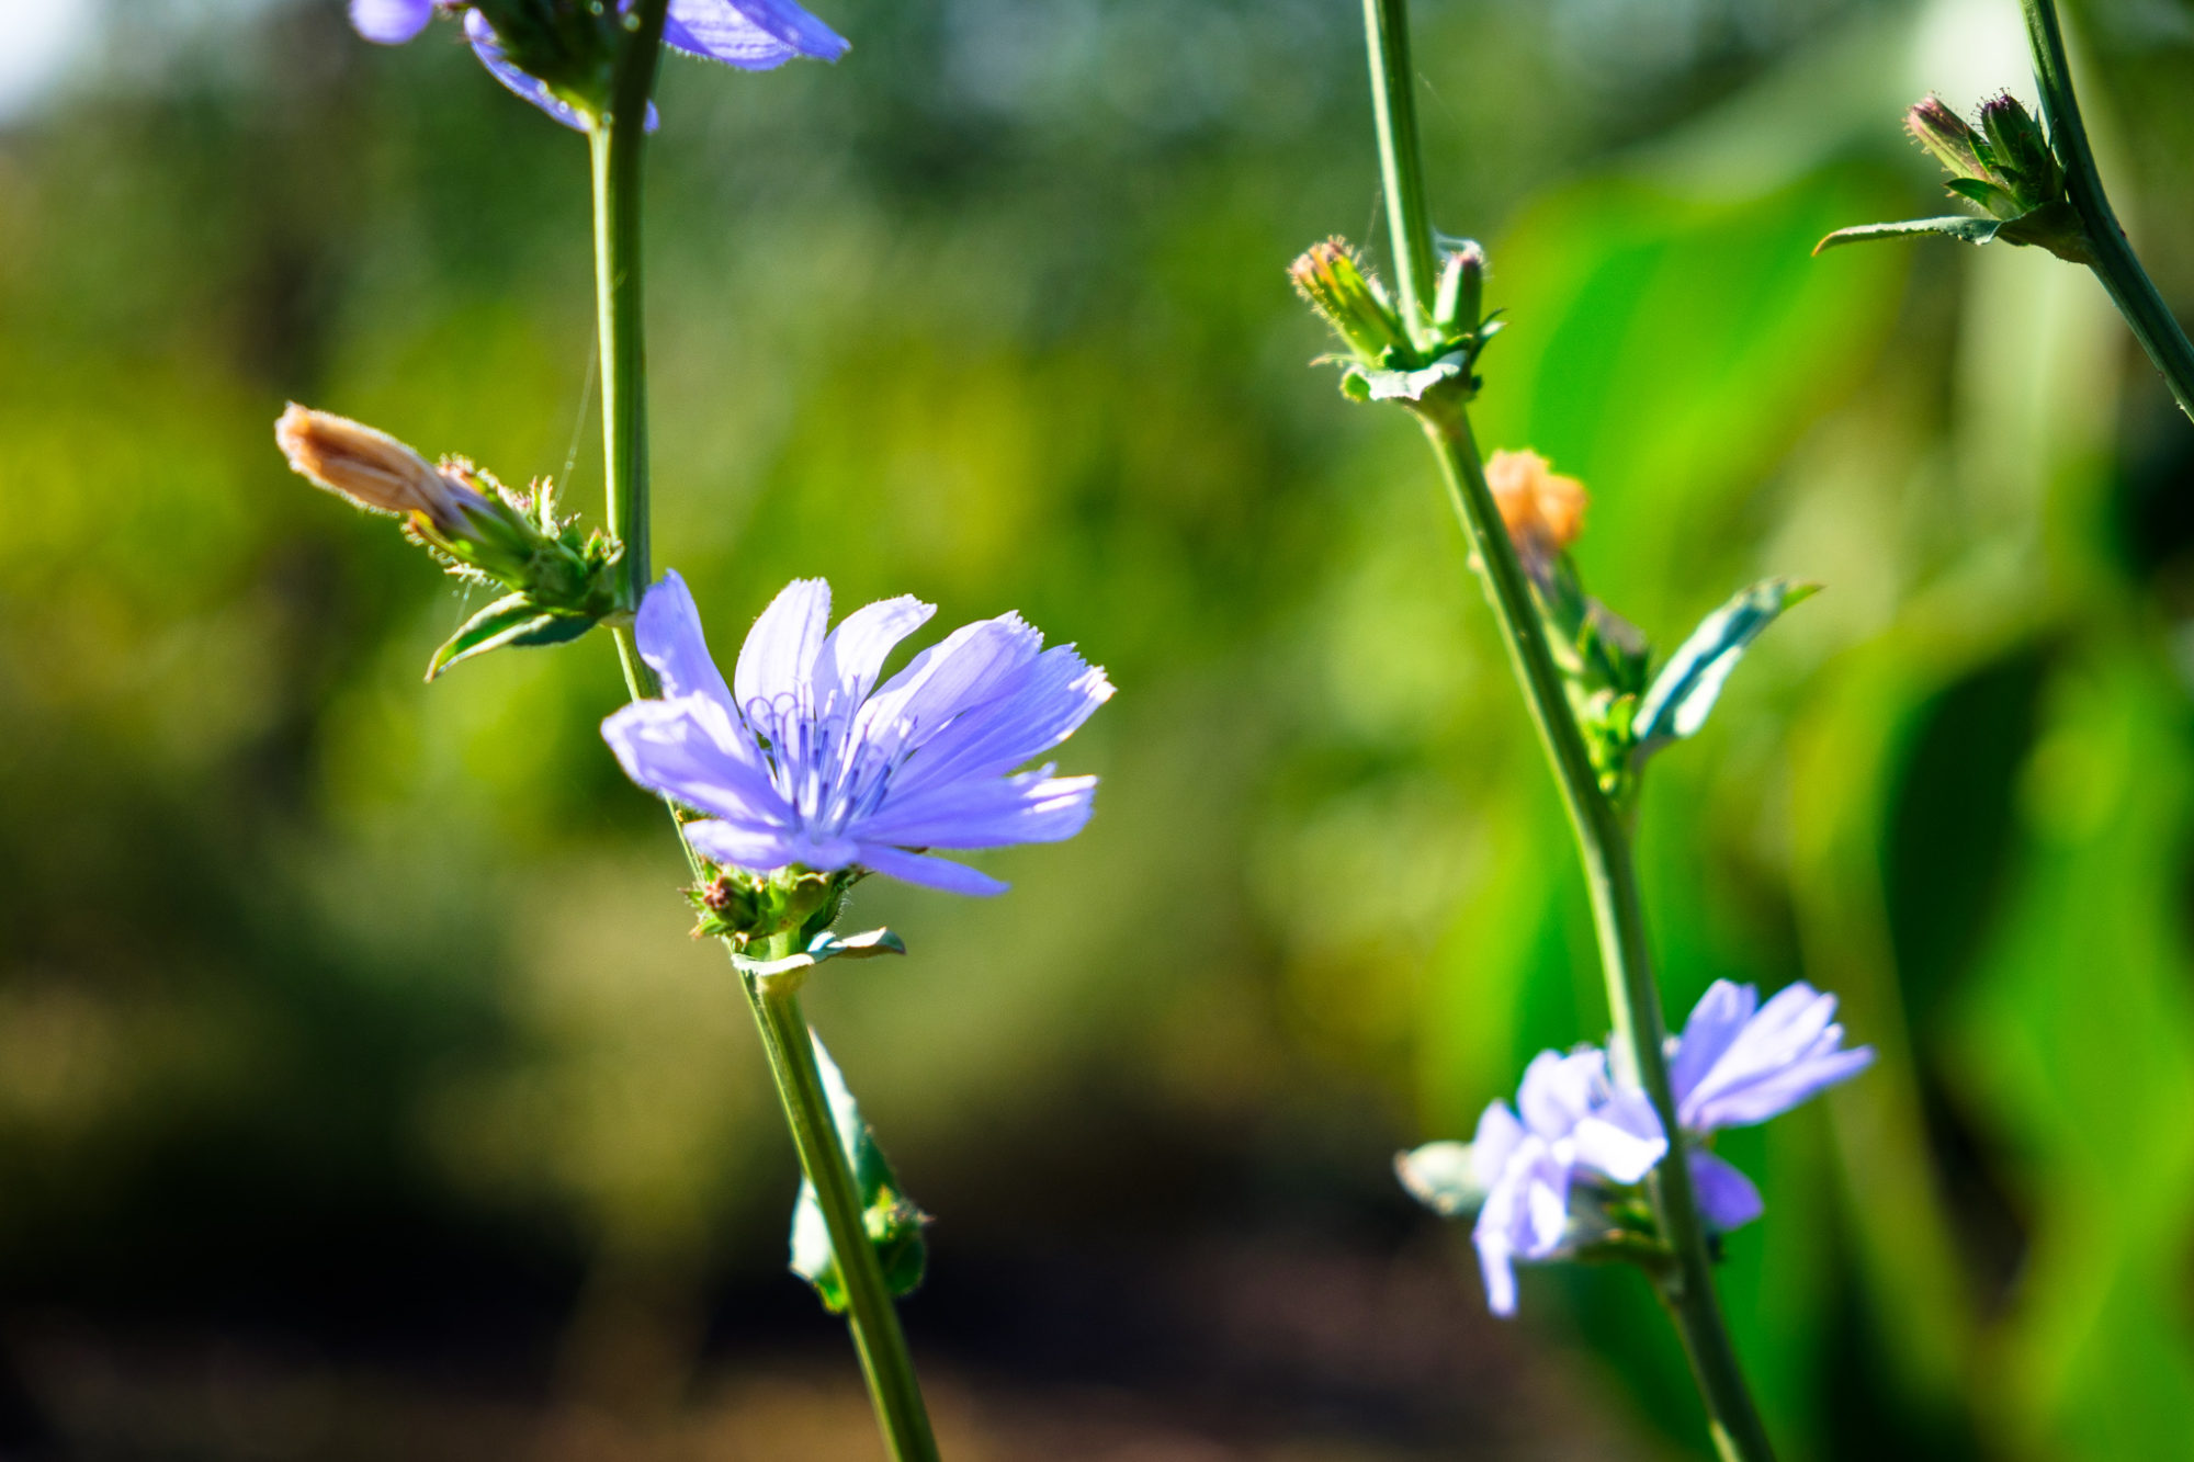
{"type": "Polygon", "coordinates": [[[913,597],[825,637],[829,584],[794,580],[755,621],[731,685],[685,580],[647,591],[634,632],[663,698],[601,724],[641,786],[709,814],[706,858],[748,871],[862,867],[954,893],[1005,885],[926,850],[1055,843],[1082,832],[1097,777],[1016,771],[1112,696],[1071,645],[1020,615],[981,619],[875,687],[884,656],[935,612],[913,597]]]}

